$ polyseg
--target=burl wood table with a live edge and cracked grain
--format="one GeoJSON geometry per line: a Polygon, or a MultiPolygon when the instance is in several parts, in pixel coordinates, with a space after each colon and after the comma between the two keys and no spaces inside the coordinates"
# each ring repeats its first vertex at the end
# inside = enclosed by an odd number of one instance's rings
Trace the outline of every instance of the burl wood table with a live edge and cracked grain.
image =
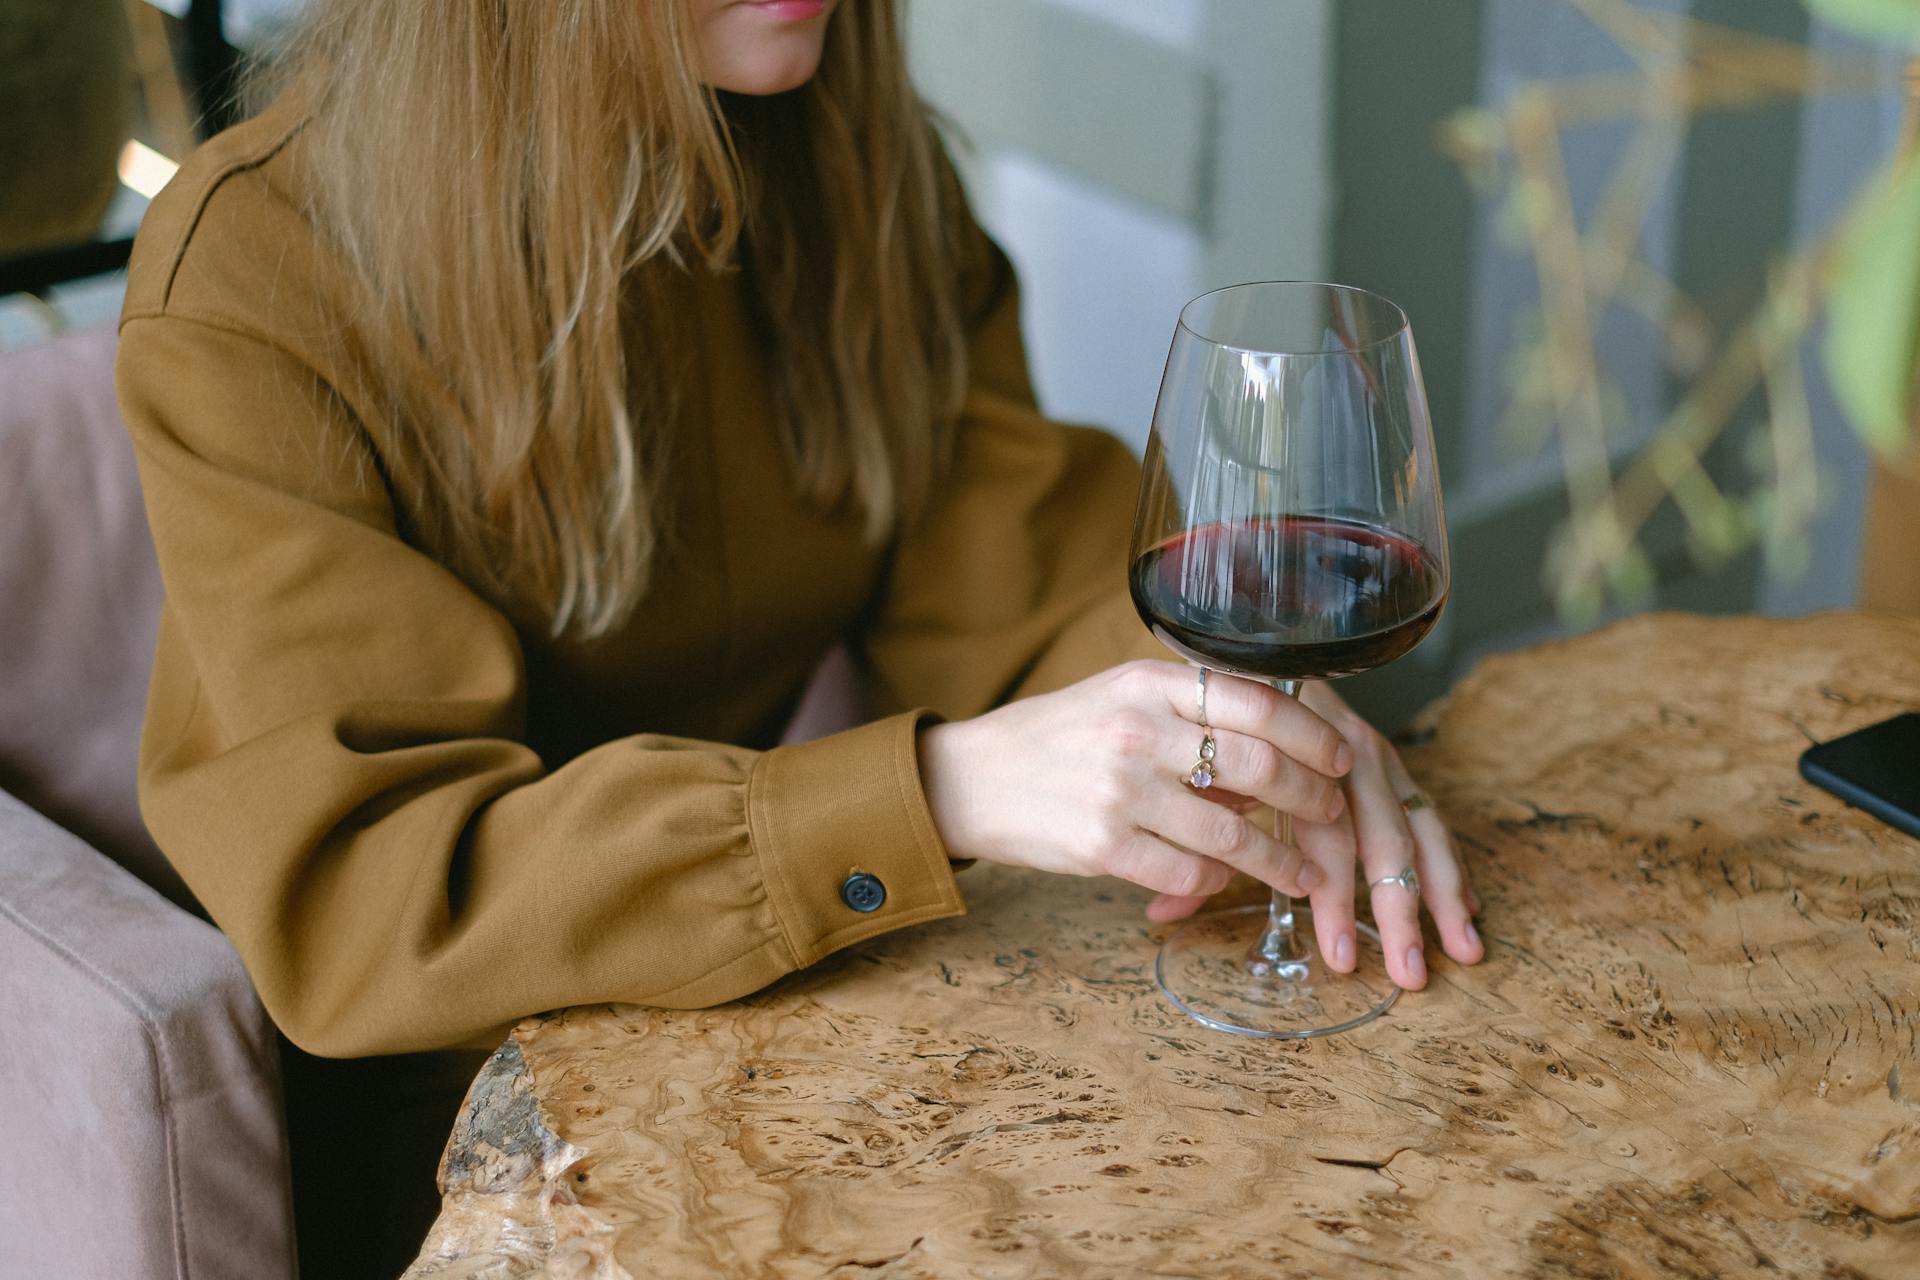
{"type": "Polygon", "coordinates": [[[528,1021],[409,1276],[1920,1276],[1920,842],[1795,773],[1914,706],[1860,614],[1486,662],[1407,762],[1488,960],[1332,1040],[1194,1027],[1144,894],[985,865],[755,1000],[528,1021]]]}

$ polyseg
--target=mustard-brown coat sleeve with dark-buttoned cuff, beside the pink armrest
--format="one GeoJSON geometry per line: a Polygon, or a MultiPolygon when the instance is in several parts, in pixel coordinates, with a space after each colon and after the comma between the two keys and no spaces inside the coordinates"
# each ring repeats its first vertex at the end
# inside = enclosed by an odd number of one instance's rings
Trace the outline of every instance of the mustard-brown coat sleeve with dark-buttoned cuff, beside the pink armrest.
{"type": "Polygon", "coordinates": [[[313,359],[132,315],[119,388],[167,591],[142,814],[303,1048],[716,1004],[962,910],[916,714],[764,754],[624,737],[549,770],[518,633],[399,535],[313,359]],[[887,887],[870,913],[841,900],[854,860],[887,887]]]}

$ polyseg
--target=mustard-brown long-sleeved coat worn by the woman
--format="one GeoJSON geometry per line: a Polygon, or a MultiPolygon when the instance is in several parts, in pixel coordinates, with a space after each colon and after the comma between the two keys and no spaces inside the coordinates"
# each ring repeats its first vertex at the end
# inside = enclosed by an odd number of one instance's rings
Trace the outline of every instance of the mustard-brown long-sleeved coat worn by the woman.
{"type": "Polygon", "coordinates": [[[1123,585],[1137,464],[1035,409],[1012,288],[937,503],[872,547],[795,495],[739,276],[687,274],[655,583],[618,633],[553,641],[409,541],[298,146],[269,109],[186,163],[119,357],[167,591],[142,814],[286,1034],[365,1055],[707,1006],[962,912],[920,727],[1156,652],[1123,585]],[[881,718],[778,745],[841,639],[881,718]],[[854,869],[879,910],[843,902],[854,869]]]}

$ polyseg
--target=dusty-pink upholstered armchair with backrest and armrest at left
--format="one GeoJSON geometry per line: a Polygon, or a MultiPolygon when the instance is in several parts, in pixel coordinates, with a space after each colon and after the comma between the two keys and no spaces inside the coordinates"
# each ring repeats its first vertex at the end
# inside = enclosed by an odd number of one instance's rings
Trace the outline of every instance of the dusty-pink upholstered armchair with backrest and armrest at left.
{"type": "Polygon", "coordinates": [[[161,593],[113,347],[0,355],[0,1276],[273,1280],[273,1029],[134,802],[161,593]]]}

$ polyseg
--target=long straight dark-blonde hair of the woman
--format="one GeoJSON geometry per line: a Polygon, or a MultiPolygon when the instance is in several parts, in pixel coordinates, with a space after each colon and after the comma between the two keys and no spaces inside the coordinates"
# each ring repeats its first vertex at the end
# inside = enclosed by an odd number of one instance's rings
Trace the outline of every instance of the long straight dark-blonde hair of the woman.
{"type": "Polygon", "coordinates": [[[804,497],[874,541],[927,501],[966,217],[893,0],[843,0],[770,100],[699,83],[680,0],[317,0],[275,79],[365,284],[386,480],[493,601],[591,637],[645,595],[689,271],[745,269],[804,497]]]}

